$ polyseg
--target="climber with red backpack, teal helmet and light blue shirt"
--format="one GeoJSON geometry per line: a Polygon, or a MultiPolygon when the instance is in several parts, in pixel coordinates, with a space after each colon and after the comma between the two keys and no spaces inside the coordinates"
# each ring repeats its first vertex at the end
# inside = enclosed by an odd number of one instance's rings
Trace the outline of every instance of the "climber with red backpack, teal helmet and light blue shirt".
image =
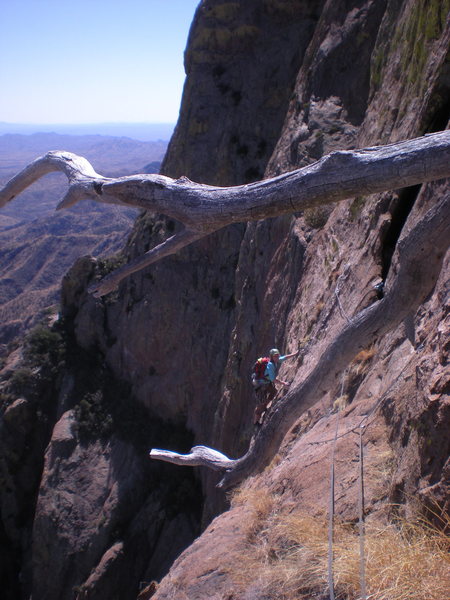
{"type": "Polygon", "coordinates": [[[277,394],[275,383],[279,383],[285,387],[290,385],[289,382],[278,379],[278,371],[286,359],[297,356],[298,352],[297,350],[297,352],[293,352],[292,354],[280,356],[280,351],[272,348],[268,357],[259,358],[256,361],[252,374],[252,385],[256,397],[256,407],[253,414],[254,425],[259,426],[262,424],[263,414],[277,394]]]}

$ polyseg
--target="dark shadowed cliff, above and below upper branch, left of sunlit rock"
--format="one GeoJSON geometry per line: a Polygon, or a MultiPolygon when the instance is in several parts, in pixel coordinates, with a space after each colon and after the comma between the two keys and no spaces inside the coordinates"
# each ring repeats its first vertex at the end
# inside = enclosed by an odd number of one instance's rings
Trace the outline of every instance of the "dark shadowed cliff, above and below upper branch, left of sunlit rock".
{"type": "MultiPolygon", "coordinates": [[[[320,8],[316,2],[255,1],[245,3],[244,10],[232,2],[201,4],[165,173],[222,185],[261,177],[320,8]]],[[[141,215],[118,260],[142,253],[176,227],[158,215],[141,215]]],[[[32,549],[22,575],[24,595],[32,589],[37,598],[60,600],[74,592],[102,598],[120,590],[123,598],[135,597],[139,582],[160,578],[174,554],[198,533],[193,505],[201,508],[202,498],[194,473],[173,479],[170,467],[145,458],[146,449],[167,443],[155,430],[180,450],[188,449],[192,436],[213,443],[244,229],[237,225],[210,236],[143,278],[130,278],[104,300],[88,296],[86,286],[106,272],[107,261],[94,265],[81,259],[65,277],[63,314],[76,356],[67,358],[64,384],[54,400],[57,424],[45,454],[32,549]],[[108,378],[121,382],[115,385],[118,394],[108,378]],[[136,447],[133,436],[120,434],[126,407],[113,414],[121,401],[130,403],[133,413],[134,400],[148,413],[137,411],[128,429],[138,430],[145,420],[155,424],[147,432],[146,449],[136,447]],[[90,429],[88,439],[80,437],[80,418],[90,429]],[[102,430],[110,419],[114,430],[105,438],[102,430]],[[167,423],[188,433],[175,439],[167,423]],[[101,443],[95,441],[96,429],[101,443]],[[138,533],[139,527],[144,531],[138,533]]],[[[206,489],[205,483],[203,493],[206,489]]]]}

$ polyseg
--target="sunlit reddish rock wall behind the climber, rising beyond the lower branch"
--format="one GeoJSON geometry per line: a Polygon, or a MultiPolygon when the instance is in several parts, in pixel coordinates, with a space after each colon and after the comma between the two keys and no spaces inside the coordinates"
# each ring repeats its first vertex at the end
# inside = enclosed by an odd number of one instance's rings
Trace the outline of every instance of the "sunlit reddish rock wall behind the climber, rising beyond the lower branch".
{"type": "MultiPolygon", "coordinates": [[[[337,147],[346,149],[389,141],[385,137],[384,115],[394,110],[392,90],[403,89],[405,81],[399,71],[397,79],[393,81],[392,71],[387,68],[387,84],[381,85],[373,75],[373,70],[376,56],[380,53],[379,47],[384,46],[387,39],[397,39],[392,50],[392,62],[397,61],[398,55],[408,51],[408,48],[399,47],[398,39],[402,27],[407,26],[408,15],[416,14],[414,7],[405,2],[403,10],[400,10],[398,3],[386,5],[383,2],[367,2],[352,3],[351,8],[347,7],[347,13],[343,6],[336,13],[336,3],[328,8],[329,11],[325,9],[322,14],[311,42],[312,49],[308,49],[297,78],[283,133],[269,162],[267,176],[303,166],[337,147]],[[333,19],[337,14],[339,18],[336,22],[333,19]],[[374,14],[378,15],[378,20],[374,20],[374,14]],[[348,22],[351,26],[346,27],[345,23],[348,22]],[[389,24],[392,29],[389,29],[389,24]],[[335,33],[338,25],[340,36],[335,33]],[[361,90],[361,96],[372,98],[372,101],[367,105],[366,117],[360,120],[359,126],[351,124],[344,108],[346,100],[337,95],[336,75],[329,80],[330,96],[320,100],[321,96],[326,96],[324,83],[314,70],[310,70],[307,61],[311,52],[314,57],[319,57],[311,62],[320,63],[320,72],[329,70],[335,73],[336,56],[342,57],[355,38],[365,40],[372,58],[368,59],[363,52],[361,55],[364,60],[359,67],[356,56],[344,63],[339,59],[338,64],[339,78],[346,81],[345,89],[356,90],[362,82],[368,86],[367,90],[361,90]],[[327,60],[330,64],[325,67],[327,60]],[[365,75],[362,74],[363,66],[365,75]],[[314,80],[318,82],[317,89],[312,83],[314,80]],[[372,84],[369,86],[370,82],[372,84]],[[316,107],[315,114],[321,114],[321,126],[312,118],[312,105],[316,107]],[[337,106],[341,107],[339,117],[335,112],[337,106]],[[374,115],[378,113],[381,116],[377,139],[375,133],[369,134],[368,130],[374,126],[374,115]],[[327,122],[328,130],[325,125],[327,122]],[[333,122],[335,127],[331,125],[333,122]],[[341,125],[344,129],[351,125],[351,137],[342,137],[341,125]],[[300,138],[299,132],[303,132],[300,138]],[[311,140],[317,139],[318,134],[324,142],[318,148],[318,154],[311,156],[311,140]]],[[[427,94],[417,97],[413,88],[410,96],[414,108],[420,105],[422,119],[414,121],[414,127],[410,126],[408,130],[404,120],[400,121],[398,126],[401,134],[393,128],[390,133],[392,141],[426,133],[435,118],[433,115],[441,115],[439,124],[442,128],[447,125],[448,112],[445,110],[448,111],[448,106],[445,98],[449,89],[446,66],[449,30],[448,24],[446,27],[444,25],[445,14],[442,9],[437,37],[423,42],[427,52],[424,75],[428,82],[427,94]],[[427,107],[431,112],[427,112],[427,107]]],[[[408,46],[408,38],[404,43],[408,46]]],[[[357,50],[355,44],[354,51],[357,50]]],[[[386,58],[386,64],[391,64],[389,57],[386,58]]],[[[402,101],[406,100],[403,98],[402,101]]],[[[411,123],[409,117],[408,122],[411,123]]],[[[385,281],[388,276],[393,249],[409,211],[413,211],[408,222],[411,227],[431,205],[433,193],[427,191],[429,189],[433,189],[433,186],[423,191],[414,188],[371,198],[361,196],[342,202],[335,208],[308,210],[294,219],[283,217],[272,222],[248,225],[238,264],[238,314],[227,368],[233,374],[229,377],[229,390],[232,392],[225,390],[222,403],[222,410],[244,411],[237,419],[223,419],[225,423],[230,423],[230,429],[234,430],[230,435],[235,440],[239,434],[236,435],[234,423],[248,422],[249,408],[245,398],[251,392],[245,369],[248,370],[252,364],[255,346],[262,353],[264,348],[267,350],[274,343],[284,346],[286,351],[296,350],[299,343],[307,344],[305,363],[313,363],[323,351],[323,340],[332,339],[346,317],[351,317],[376,299],[373,285],[385,281]],[[421,198],[427,198],[427,202],[421,201],[421,198]],[[339,290],[339,302],[336,290],[339,290]],[[233,402],[229,401],[231,396],[233,402]],[[236,402],[236,396],[241,396],[242,400],[236,402]]],[[[442,193],[439,188],[437,195],[442,193]]],[[[305,373],[306,365],[299,377],[305,373]]],[[[224,436],[225,451],[236,451],[236,442],[225,442],[227,434],[223,428],[221,434],[224,436]]]]}

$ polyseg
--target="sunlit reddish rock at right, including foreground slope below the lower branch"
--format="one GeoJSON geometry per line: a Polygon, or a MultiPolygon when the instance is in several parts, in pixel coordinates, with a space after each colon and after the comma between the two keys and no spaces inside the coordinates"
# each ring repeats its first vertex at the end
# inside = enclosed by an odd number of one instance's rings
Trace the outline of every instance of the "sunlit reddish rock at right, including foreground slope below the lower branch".
{"type": "MultiPolygon", "coordinates": [[[[448,4],[338,5],[328,3],[321,15],[266,175],[333,149],[448,127],[448,4]]],[[[377,301],[374,284],[389,286],[399,237],[448,194],[448,182],[436,182],[247,226],[215,447],[231,456],[247,447],[248,370],[255,356],[273,345],[292,352],[300,344],[303,358],[287,363],[282,377],[301,380],[347,319],[377,301]]],[[[336,447],[341,518],[357,520],[357,447],[350,431],[374,409],[364,434],[367,513],[384,522],[391,503],[407,516],[427,506],[448,510],[448,269],[447,258],[416,315],[355,357],[334,389],[305,412],[272,465],[250,484],[256,492],[213,521],[176,561],[155,598],[181,597],[179,590],[199,599],[280,597],[263,580],[262,566],[243,574],[248,555],[258,551],[252,545],[258,527],[270,527],[258,494],[263,500],[264,491],[273,494],[272,515],[327,513],[330,442],[340,408],[339,433],[346,433],[336,447]],[[252,529],[258,519],[263,524],[252,529]]],[[[266,537],[261,534],[261,544],[270,544],[266,537]]],[[[266,558],[270,564],[269,551],[266,558]]]]}

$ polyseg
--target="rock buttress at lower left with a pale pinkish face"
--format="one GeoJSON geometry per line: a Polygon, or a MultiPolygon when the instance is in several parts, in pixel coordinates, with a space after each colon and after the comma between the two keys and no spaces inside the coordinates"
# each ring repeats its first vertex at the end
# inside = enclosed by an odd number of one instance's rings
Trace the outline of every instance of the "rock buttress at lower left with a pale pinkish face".
{"type": "Polygon", "coordinates": [[[146,468],[143,448],[123,435],[80,444],[74,425],[73,411],[61,416],[45,456],[33,527],[33,595],[136,596],[139,581],[160,577],[198,531],[194,515],[187,517],[186,478],[176,484],[186,493],[176,514],[175,499],[168,501],[174,482],[146,468]]]}

